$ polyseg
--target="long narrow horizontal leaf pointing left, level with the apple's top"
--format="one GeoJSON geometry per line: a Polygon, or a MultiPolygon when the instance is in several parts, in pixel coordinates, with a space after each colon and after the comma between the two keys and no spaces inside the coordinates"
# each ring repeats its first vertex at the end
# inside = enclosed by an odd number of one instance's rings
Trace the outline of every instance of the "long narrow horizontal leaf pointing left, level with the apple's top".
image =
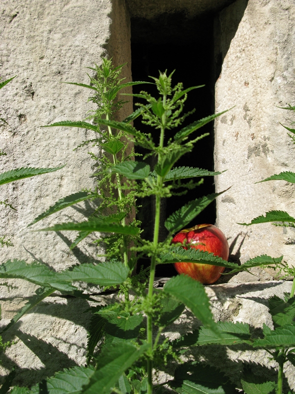
{"type": "Polygon", "coordinates": [[[55,225],[53,227],[47,227],[46,229],[40,229],[37,231],[99,231],[99,232],[115,232],[117,234],[126,234],[126,235],[137,235],[139,229],[132,226],[121,226],[117,224],[111,224],[108,222],[104,222],[100,219],[91,219],[89,221],[81,222],[81,223],[61,223],[59,225],[55,225]]]}

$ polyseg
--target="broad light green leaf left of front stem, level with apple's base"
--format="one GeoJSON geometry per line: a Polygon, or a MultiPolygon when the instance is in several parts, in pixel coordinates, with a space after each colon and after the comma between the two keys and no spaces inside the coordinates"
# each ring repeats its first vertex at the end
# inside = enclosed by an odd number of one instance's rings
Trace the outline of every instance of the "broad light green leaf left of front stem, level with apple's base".
{"type": "Polygon", "coordinates": [[[122,263],[85,263],[75,266],[71,271],[57,272],[60,281],[81,281],[100,286],[115,286],[123,283],[129,274],[129,268],[122,263]]]}

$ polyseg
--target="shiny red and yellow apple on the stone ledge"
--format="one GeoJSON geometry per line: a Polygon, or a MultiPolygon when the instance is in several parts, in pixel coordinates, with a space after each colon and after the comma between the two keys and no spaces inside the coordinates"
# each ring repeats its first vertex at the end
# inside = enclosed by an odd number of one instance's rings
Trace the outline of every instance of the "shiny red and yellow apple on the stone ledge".
{"type": "MultiPolygon", "coordinates": [[[[229,258],[228,241],[224,233],[213,225],[197,225],[181,230],[172,240],[172,243],[178,242],[188,243],[191,248],[213,253],[226,261],[229,258]]],[[[183,248],[187,249],[185,246],[183,248]]],[[[209,264],[174,263],[174,266],[178,274],[188,275],[206,285],[216,282],[224,271],[224,267],[209,264]]]]}

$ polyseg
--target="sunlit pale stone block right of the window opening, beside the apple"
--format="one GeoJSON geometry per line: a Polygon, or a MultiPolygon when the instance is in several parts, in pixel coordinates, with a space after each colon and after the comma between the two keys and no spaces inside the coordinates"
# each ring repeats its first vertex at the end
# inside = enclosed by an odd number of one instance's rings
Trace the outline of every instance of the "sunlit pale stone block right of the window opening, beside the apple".
{"type": "Polygon", "coordinates": [[[227,169],[216,189],[231,186],[217,199],[217,226],[241,262],[264,253],[295,260],[294,229],[237,224],[275,209],[295,215],[292,184],[255,184],[295,170],[294,145],[280,125],[295,117],[277,108],[295,102],[294,17],[292,0],[237,0],[215,19],[216,112],[235,105],[215,124],[215,170],[227,169]]]}

